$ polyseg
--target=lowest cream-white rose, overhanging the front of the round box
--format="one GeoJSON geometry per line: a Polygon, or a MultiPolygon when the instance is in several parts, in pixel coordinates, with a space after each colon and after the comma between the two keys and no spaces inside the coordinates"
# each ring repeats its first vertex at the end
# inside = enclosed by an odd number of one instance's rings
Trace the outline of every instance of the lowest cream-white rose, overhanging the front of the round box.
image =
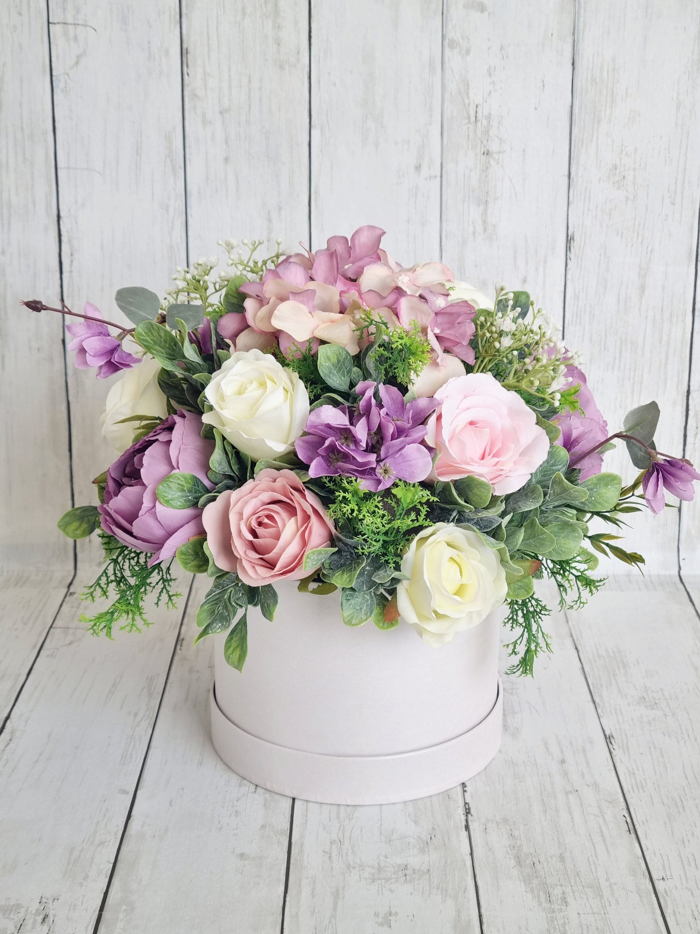
{"type": "Polygon", "coordinates": [[[477,626],[506,599],[498,552],[475,531],[438,522],[419,532],[401,561],[399,614],[435,647],[477,626]]]}

